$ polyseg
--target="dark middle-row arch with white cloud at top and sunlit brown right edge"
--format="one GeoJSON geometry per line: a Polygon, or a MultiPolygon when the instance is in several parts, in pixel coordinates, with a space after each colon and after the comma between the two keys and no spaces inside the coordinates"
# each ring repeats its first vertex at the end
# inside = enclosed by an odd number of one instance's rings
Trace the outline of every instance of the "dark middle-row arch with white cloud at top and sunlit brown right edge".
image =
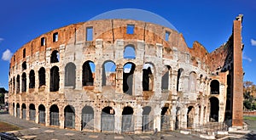
{"type": "Polygon", "coordinates": [[[143,91],[152,91],[153,90],[153,65],[152,64],[144,64],[143,65],[143,91]]]}

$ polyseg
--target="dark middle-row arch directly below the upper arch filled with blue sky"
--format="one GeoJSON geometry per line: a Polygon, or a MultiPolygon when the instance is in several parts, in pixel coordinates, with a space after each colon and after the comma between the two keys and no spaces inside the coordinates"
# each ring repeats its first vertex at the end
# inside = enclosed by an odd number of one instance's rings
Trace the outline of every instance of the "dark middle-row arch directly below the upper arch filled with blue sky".
{"type": "Polygon", "coordinates": [[[123,67],[123,92],[132,95],[135,64],[128,62],[123,67]]]}

